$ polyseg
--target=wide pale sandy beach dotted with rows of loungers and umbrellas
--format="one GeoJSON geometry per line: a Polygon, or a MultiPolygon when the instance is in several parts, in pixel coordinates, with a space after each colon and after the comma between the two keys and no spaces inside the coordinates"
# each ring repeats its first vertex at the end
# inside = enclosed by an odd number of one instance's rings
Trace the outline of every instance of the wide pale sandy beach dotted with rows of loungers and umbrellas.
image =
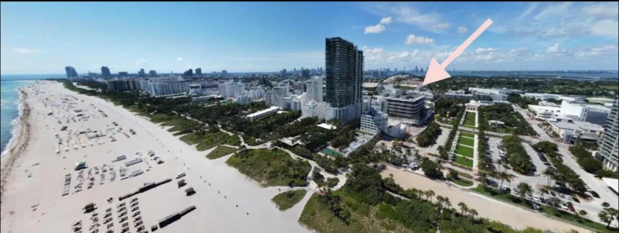
{"type": "Polygon", "coordinates": [[[139,221],[150,231],[160,219],[191,205],[196,210],[157,232],[308,232],[297,220],[312,192],[279,211],[271,198],[288,187],[263,188],[228,167],[227,156],[209,160],[210,150],[197,151],[145,117],[66,90],[61,83],[38,82],[23,91],[17,138],[2,156],[1,232],[73,232],[75,221],[81,221],[82,232],[91,232],[91,226],[121,232],[126,222],[130,232],[137,232],[139,221]],[[155,163],[149,151],[165,163],[155,163]],[[118,156],[126,159],[115,161],[118,156]],[[134,159],[143,161],[125,164],[134,159]],[[87,168],[76,171],[81,161],[87,168]],[[175,177],[183,172],[187,184],[178,188],[175,177]],[[147,182],[165,179],[171,182],[118,200],[147,182]],[[196,194],[186,196],[188,187],[196,194]],[[139,204],[129,206],[133,198],[139,204]],[[97,221],[82,210],[90,202],[96,205],[97,221]],[[117,208],[121,203],[131,211],[117,208]],[[111,221],[104,223],[108,208],[111,221]]]}

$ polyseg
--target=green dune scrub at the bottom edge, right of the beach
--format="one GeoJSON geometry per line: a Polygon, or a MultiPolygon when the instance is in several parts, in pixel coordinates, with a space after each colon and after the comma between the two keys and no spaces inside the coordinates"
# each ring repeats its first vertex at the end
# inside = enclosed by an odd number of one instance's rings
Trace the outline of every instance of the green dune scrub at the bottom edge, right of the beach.
{"type": "Polygon", "coordinates": [[[356,200],[345,192],[337,190],[335,195],[342,198],[342,205],[350,210],[350,224],[337,218],[327,206],[318,201],[314,193],[303,208],[299,222],[316,232],[412,232],[392,219],[394,208],[386,203],[371,206],[356,200]]]}

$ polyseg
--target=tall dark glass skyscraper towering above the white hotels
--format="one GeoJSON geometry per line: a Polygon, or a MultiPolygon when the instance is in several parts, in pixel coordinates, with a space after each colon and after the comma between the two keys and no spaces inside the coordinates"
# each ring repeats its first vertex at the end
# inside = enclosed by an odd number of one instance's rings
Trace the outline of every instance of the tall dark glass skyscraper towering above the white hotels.
{"type": "Polygon", "coordinates": [[[363,51],[342,38],[325,40],[326,95],[333,116],[342,122],[361,116],[363,51]]]}

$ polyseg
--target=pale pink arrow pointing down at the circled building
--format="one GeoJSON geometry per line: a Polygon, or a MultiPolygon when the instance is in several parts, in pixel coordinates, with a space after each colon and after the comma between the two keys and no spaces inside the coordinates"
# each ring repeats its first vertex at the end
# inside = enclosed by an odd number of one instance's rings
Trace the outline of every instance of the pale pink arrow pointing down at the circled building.
{"type": "Polygon", "coordinates": [[[447,57],[447,59],[445,59],[445,61],[443,61],[443,63],[438,64],[438,62],[436,62],[434,58],[431,59],[430,66],[428,66],[428,72],[426,72],[426,77],[423,79],[423,85],[428,85],[430,83],[438,82],[445,78],[451,77],[451,75],[449,75],[448,72],[445,71],[445,68],[449,66],[449,64],[451,64],[451,62],[454,61],[456,57],[460,56],[460,54],[464,52],[464,49],[469,47],[470,43],[473,43],[473,41],[477,39],[477,36],[482,35],[482,32],[485,31],[488,27],[490,27],[491,24],[492,20],[490,19],[487,19],[486,22],[483,22],[482,26],[477,28],[477,30],[475,30],[475,32],[464,41],[464,43],[460,44],[460,46],[458,46],[458,48],[453,51],[453,53],[449,54],[449,56],[447,57]]]}

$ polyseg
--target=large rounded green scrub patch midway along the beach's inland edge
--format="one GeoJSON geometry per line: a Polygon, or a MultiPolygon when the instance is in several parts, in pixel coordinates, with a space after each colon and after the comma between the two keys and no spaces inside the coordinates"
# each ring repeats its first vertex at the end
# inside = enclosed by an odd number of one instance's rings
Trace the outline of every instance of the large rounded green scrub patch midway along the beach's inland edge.
{"type": "Polygon", "coordinates": [[[311,169],[308,161],[297,161],[279,149],[242,150],[226,163],[264,186],[306,186],[311,169]]]}

